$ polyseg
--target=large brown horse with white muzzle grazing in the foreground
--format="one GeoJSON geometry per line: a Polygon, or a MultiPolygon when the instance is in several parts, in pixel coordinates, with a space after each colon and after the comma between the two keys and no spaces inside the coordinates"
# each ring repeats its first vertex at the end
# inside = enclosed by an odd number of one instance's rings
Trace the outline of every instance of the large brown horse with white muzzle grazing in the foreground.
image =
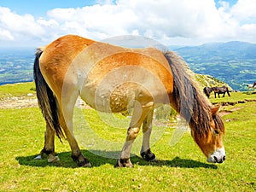
{"type": "MultiPolygon", "coordinates": [[[[73,135],[73,108],[80,96],[97,111],[119,113],[133,108],[124,147],[116,166],[131,167],[131,146],[143,125],[141,155],[155,160],[149,146],[154,108],[169,103],[189,123],[207,161],[225,160],[224,123],[195,84],[186,63],[171,51],[128,49],[75,35],[38,48],[34,79],[38,105],[46,121],[41,156],[56,160],[55,134],[67,138],[73,160],[91,166],[73,135]]],[[[108,133],[111,134],[111,133],[108,133]]],[[[84,138],[86,139],[86,138],[84,138]]]]}

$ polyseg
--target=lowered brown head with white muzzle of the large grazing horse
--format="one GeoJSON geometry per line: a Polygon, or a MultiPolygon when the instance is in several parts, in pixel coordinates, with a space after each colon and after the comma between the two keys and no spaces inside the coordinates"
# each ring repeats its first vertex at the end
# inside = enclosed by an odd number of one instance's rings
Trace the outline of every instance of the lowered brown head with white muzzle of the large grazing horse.
{"type": "Polygon", "coordinates": [[[218,109],[212,108],[212,118],[202,124],[207,126],[207,129],[203,129],[204,127],[201,127],[202,125],[198,123],[192,123],[192,125],[190,123],[191,134],[195,143],[198,144],[201,151],[207,156],[207,161],[211,163],[222,163],[226,158],[222,141],[224,137],[224,123],[218,115],[218,109]]]}

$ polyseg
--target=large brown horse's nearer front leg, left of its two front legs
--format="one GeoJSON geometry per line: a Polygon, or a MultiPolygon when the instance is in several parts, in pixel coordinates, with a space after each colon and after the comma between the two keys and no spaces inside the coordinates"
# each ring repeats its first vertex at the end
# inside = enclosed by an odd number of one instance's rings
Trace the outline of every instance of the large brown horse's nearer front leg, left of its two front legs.
{"type": "Polygon", "coordinates": [[[130,160],[131,146],[135,141],[137,134],[140,131],[140,127],[143,120],[146,118],[148,113],[152,110],[153,102],[149,102],[146,105],[136,103],[131,118],[131,123],[127,131],[124,147],[122,148],[119,160],[117,161],[117,167],[132,167],[130,160]]]}

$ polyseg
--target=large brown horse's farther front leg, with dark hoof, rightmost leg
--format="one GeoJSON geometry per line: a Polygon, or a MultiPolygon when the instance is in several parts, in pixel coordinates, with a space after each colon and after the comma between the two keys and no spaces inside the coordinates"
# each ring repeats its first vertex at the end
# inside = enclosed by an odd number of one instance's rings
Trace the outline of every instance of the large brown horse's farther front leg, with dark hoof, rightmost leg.
{"type": "Polygon", "coordinates": [[[144,160],[148,160],[148,161],[156,160],[155,155],[150,150],[150,144],[149,144],[150,135],[152,131],[153,113],[154,113],[153,110],[149,112],[146,119],[144,119],[143,121],[143,146],[141,149],[141,155],[144,160]]]}

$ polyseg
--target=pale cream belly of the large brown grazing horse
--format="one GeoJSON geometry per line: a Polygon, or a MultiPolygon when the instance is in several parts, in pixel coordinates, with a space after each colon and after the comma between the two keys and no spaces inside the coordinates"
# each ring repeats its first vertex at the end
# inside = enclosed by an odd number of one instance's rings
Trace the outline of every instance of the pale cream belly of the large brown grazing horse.
{"type": "Polygon", "coordinates": [[[135,102],[146,105],[148,102],[169,103],[165,90],[146,89],[143,84],[125,82],[123,84],[84,84],[81,97],[97,111],[119,113],[133,108],[135,102]],[[148,91],[149,90],[149,91],[148,91]],[[150,91],[151,90],[151,91],[150,91]]]}

